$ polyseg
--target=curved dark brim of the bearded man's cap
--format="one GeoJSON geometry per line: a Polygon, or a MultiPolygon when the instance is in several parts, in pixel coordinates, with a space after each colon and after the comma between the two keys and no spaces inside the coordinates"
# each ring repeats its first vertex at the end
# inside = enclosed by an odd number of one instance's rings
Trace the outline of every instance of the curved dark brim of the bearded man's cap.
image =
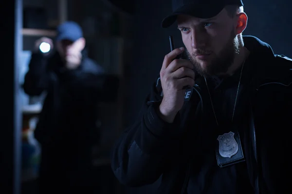
{"type": "Polygon", "coordinates": [[[174,11],[171,15],[165,17],[162,21],[162,27],[168,28],[177,19],[178,15],[189,15],[198,18],[211,18],[217,16],[224,6],[220,5],[184,5],[183,7],[174,11]]]}

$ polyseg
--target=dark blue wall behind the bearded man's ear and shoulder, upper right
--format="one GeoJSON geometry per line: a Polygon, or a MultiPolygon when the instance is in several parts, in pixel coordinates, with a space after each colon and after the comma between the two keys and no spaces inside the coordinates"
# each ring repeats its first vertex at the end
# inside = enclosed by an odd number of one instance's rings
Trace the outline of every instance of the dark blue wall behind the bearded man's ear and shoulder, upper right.
{"type": "Polygon", "coordinates": [[[243,0],[248,25],[243,35],[255,35],[276,54],[292,57],[291,0],[243,0]]]}

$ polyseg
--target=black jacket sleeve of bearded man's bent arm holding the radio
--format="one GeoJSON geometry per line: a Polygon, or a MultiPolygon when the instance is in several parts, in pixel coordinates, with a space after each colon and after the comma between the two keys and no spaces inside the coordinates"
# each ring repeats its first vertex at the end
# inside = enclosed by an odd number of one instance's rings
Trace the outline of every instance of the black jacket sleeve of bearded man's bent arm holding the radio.
{"type": "Polygon", "coordinates": [[[124,131],[112,149],[111,168],[127,186],[154,183],[162,175],[169,153],[178,147],[179,113],[172,124],[160,119],[156,110],[162,97],[156,85],[157,82],[143,103],[137,121],[124,131]]]}

